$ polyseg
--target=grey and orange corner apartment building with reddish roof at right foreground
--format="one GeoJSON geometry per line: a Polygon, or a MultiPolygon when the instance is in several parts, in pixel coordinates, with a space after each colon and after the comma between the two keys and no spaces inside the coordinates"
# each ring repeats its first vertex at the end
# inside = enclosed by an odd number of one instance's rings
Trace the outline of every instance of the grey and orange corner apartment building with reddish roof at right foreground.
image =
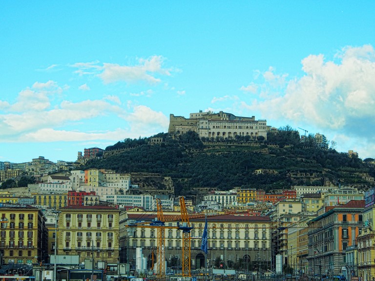
{"type": "Polygon", "coordinates": [[[325,206],[323,214],[308,222],[310,276],[347,276],[345,250],[362,231],[364,207],[364,200],[325,206]]]}

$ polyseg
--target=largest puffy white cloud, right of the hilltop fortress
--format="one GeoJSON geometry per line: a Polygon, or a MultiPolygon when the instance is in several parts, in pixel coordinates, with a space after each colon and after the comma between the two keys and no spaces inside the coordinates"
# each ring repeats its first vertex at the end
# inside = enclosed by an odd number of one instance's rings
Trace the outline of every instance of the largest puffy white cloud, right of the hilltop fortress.
{"type": "Polygon", "coordinates": [[[374,138],[375,52],[370,45],[345,47],[326,60],[310,55],[302,60],[301,78],[286,80],[270,68],[259,78],[262,99],[243,103],[267,119],[308,124],[320,130],[340,130],[348,136],[374,138]]]}

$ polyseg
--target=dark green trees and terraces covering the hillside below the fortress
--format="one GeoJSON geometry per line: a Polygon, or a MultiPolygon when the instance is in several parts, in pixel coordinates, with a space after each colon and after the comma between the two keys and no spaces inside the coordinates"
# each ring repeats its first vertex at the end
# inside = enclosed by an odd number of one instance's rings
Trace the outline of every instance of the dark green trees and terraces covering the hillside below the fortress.
{"type": "Polygon", "coordinates": [[[199,188],[229,190],[233,187],[272,191],[294,185],[349,185],[367,189],[366,176],[374,168],[334,149],[317,148],[309,136],[303,145],[298,133],[279,130],[268,141],[237,137],[203,139],[190,132],[179,137],[160,133],[160,145],[148,139],[108,146],[103,159],[91,160],[82,169],[111,169],[121,173],[154,173],[170,177],[176,195],[199,188]]]}

